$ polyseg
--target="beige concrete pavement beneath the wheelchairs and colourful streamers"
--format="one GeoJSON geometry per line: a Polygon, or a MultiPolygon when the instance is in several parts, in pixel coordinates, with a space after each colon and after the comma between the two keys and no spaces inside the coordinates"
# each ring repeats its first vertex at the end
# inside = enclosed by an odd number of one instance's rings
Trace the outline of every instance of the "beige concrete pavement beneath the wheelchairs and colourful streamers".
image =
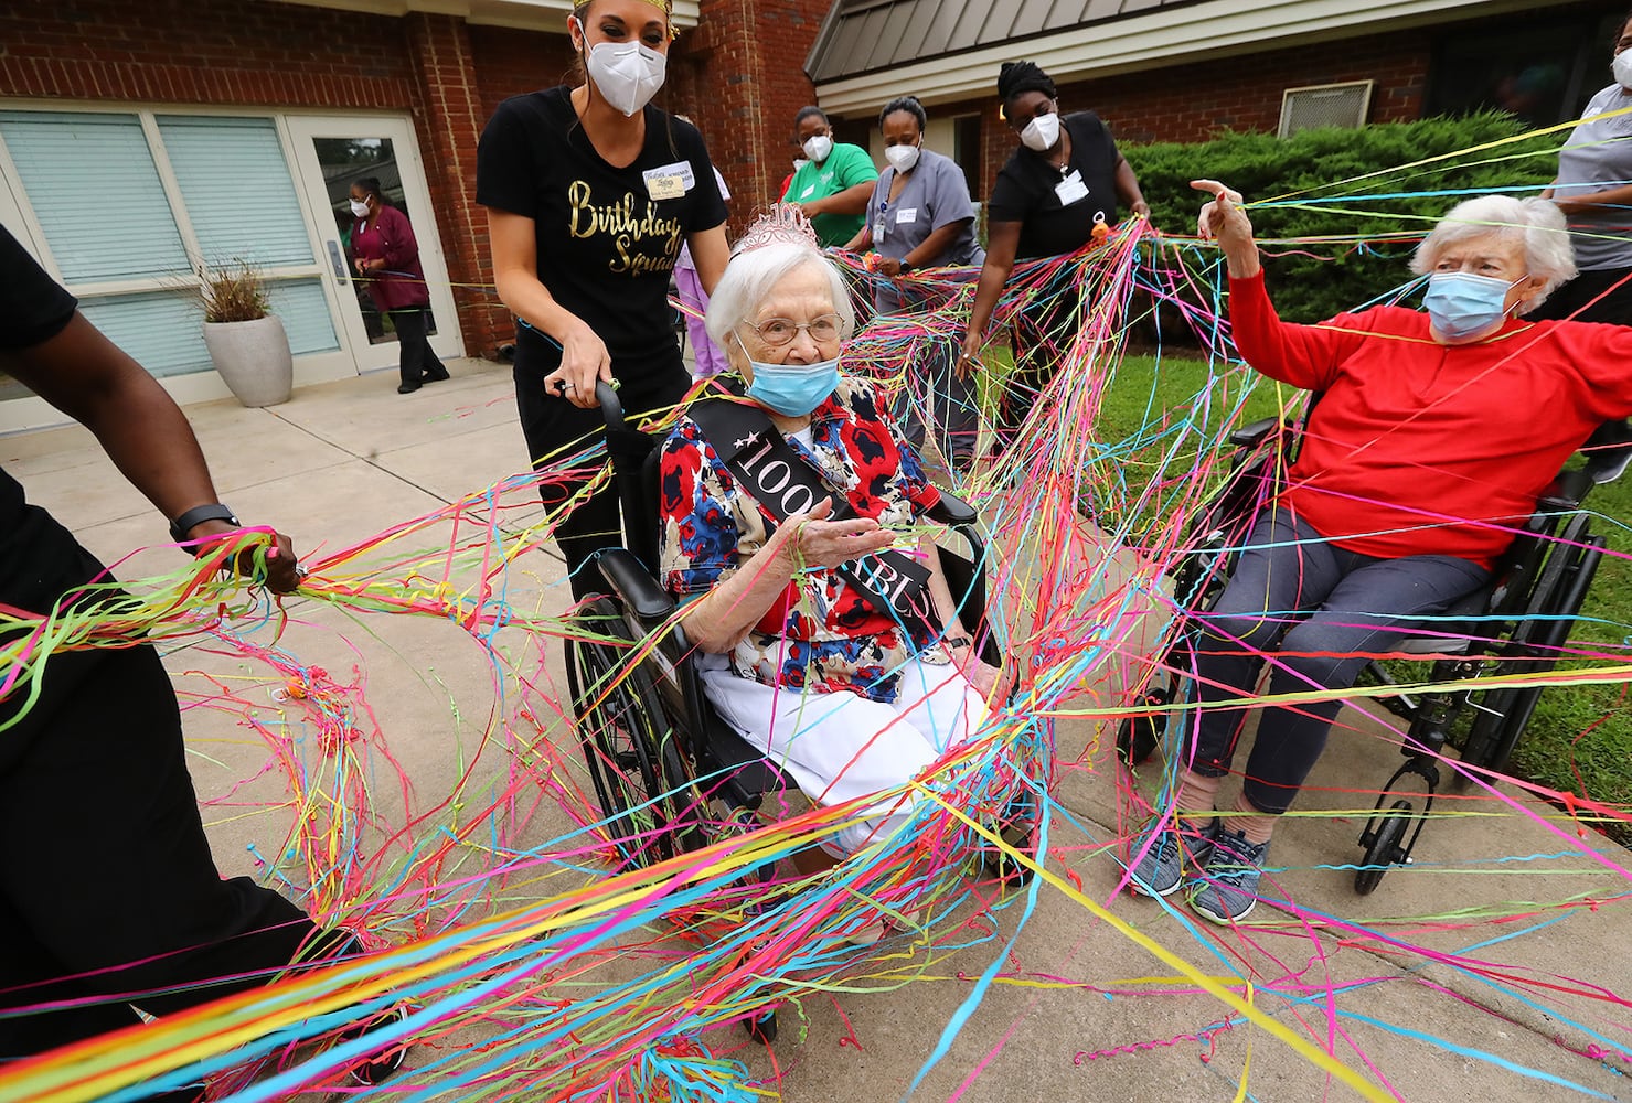
{"type": "MultiPolygon", "coordinates": [[[[449,367],[450,382],[408,396],[395,393],[395,374],[380,374],[304,388],[269,410],[211,403],[188,414],[224,501],[246,524],[287,532],[308,561],[320,561],[325,552],[429,514],[524,467],[509,369],[480,361],[449,367]]],[[[0,463],[31,501],[106,563],[118,563],[119,576],[180,566],[173,550],[131,556],[166,542],[163,520],[83,429],[0,439],[0,463]]],[[[508,520],[527,516],[526,498],[508,503],[508,520]]],[[[439,538],[442,529],[415,534],[413,547],[431,548],[439,538]]],[[[519,607],[563,610],[558,561],[543,550],[524,555],[511,568],[506,597],[519,607]]],[[[470,738],[450,720],[450,705],[462,724],[472,724],[493,703],[490,666],[478,648],[455,625],[428,618],[348,622],[333,607],[299,600],[290,610],[284,646],[302,662],[366,676],[392,754],[413,780],[418,803],[434,804],[463,769],[454,751],[470,738]]],[[[1136,631],[1118,645],[1126,662],[1138,661],[1138,640],[1136,631]]],[[[269,692],[256,672],[204,645],[175,651],[166,662],[186,693],[202,692],[201,672],[269,692]]],[[[558,658],[548,676],[565,698],[557,664],[558,658]]],[[[1102,684],[1082,687],[1080,705],[1110,703],[1120,677],[1106,669],[1102,684]]],[[[188,720],[202,801],[279,800],[277,778],[240,788],[266,759],[253,734],[207,710],[188,720]]],[[[570,739],[563,728],[555,733],[570,739]]],[[[1575,824],[1552,808],[1524,803],[1521,814],[1472,788],[1443,798],[1441,808],[1461,814],[1428,826],[1413,868],[1390,871],[1376,894],[1358,897],[1353,871],[1335,866],[1358,862],[1359,821],[1307,816],[1278,834],[1275,879],[1306,917],[1332,919],[1299,924],[1265,907],[1250,928],[1217,930],[1182,904],[1170,914],[1152,901],[1113,896],[1121,871],[1110,855],[1129,813],[1120,811],[1110,731],[1062,716],[1056,738],[1066,764],[1056,793],[1064,814],[1053,822],[1049,868],[1080,881],[1087,897],[1206,974],[1253,977],[1260,1008],[1384,1092],[1446,1101],[1575,1098],[1562,1080],[1596,1098],[1632,1098],[1625,1079],[1632,1059],[1621,1052],[1632,1051],[1632,886],[1614,868],[1625,865],[1625,852],[1596,835],[1578,839],[1575,824]],[[1609,865],[1591,845],[1603,847],[1609,865]],[[1598,1044],[1588,1031],[1616,1041],[1588,1054],[1598,1044]]],[[[1390,738],[1384,724],[1345,713],[1299,808],[1369,808],[1399,762],[1390,738]]],[[[481,770],[491,773],[478,777],[493,780],[503,769],[486,764],[481,770]]],[[[1154,790],[1155,767],[1138,782],[1154,790]]],[[[377,795],[380,808],[400,809],[400,795],[388,790],[377,795]]],[[[287,831],[277,813],[245,817],[212,806],[206,819],[225,875],[256,873],[256,852],[277,847],[287,831]]],[[[529,835],[550,839],[566,827],[565,816],[547,808],[529,835]]],[[[1002,912],[1010,933],[1020,910],[1002,912]]],[[[774,1087],[801,1103],[902,1098],[997,946],[934,961],[922,948],[902,946],[902,955],[924,956],[922,979],[837,1002],[808,999],[803,1030],[793,1012],[783,1012],[774,1087]]],[[[1244,1070],[1247,1098],[1358,1098],[1265,1031],[1231,1021],[1213,997],[1160,981],[1172,976],[1123,933],[1043,886],[999,984],[914,1098],[1234,1100],[1244,1070]]],[[[725,1048],[739,1038],[710,1041],[725,1048]]],[[[744,1046],[738,1057],[772,1077],[764,1051],[744,1046]]]]}

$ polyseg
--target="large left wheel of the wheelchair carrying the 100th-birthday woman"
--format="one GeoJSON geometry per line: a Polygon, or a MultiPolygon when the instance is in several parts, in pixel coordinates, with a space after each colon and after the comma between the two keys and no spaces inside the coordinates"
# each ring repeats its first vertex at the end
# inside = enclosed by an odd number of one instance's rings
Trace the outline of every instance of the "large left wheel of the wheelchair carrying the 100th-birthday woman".
{"type": "Polygon", "coordinates": [[[573,640],[566,648],[578,742],[607,817],[607,837],[617,847],[620,868],[661,862],[674,855],[663,703],[646,669],[632,662],[633,645],[609,599],[592,602],[581,623],[617,640],[573,640]]]}

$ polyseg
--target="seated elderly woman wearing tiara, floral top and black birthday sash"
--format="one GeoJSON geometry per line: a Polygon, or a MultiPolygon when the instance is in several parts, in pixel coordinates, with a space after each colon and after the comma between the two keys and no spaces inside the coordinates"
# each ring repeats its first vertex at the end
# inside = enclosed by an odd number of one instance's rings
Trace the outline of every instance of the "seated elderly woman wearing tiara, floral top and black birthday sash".
{"type": "Polygon", "coordinates": [[[878,795],[971,738],[997,671],[925,532],[940,493],[878,393],[839,372],[855,317],[798,219],[747,232],[707,325],[747,390],[692,403],[663,444],[659,578],[726,723],[813,801],[878,798],[831,860],[911,814],[878,795]]]}

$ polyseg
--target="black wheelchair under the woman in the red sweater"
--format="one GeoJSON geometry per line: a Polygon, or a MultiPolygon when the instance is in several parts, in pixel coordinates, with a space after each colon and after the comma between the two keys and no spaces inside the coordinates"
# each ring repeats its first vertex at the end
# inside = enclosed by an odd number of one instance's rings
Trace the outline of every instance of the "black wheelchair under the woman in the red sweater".
{"type": "MultiPolygon", "coordinates": [[[[1310,400],[1309,411],[1315,401],[1319,396],[1310,400]]],[[[1235,454],[1229,472],[1191,527],[1195,535],[1186,542],[1188,550],[1170,571],[1180,609],[1204,610],[1222,592],[1234,552],[1245,542],[1258,507],[1275,494],[1275,472],[1296,458],[1299,431],[1296,421],[1265,418],[1231,434],[1235,454]]],[[[1412,865],[1412,850],[1441,786],[1448,744],[1459,746],[1461,762],[1477,770],[1500,773],[1506,767],[1542,687],[1487,687],[1470,680],[1511,679],[1550,669],[1559,661],[1604,550],[1604,537],[1591,530],[1591,517],[1581,512],[1591,486],[1586,472],[1560,472],[1498,560],[1493,583],[1456,602],[1431,627],[1400,645],[1404,654],[1433,656],[1425,684],[1435,689],[1400,690],[1381,661],[1361,671],[1356,684],[1376,687],[1377,703],[1408,728],[1400,746],[1405,762],[1382,785],[1359,834],[1364,853],[1355,871],[1358,894],[1373,893],[1390,868],[1412,865]],[[1420,786],[1404,786],[1408,778],[1420,786]]],[[[1185,669],[1183,617],[1175,620],[1173,631],[1165,662],[1170,672],[1185,669]]],[[[1177,674],[1169,677],[1167,685],[1142,695],[1142,707],[1162,708],[1180,700],[1177,674]]],[[[1167,713],[1123,720],[1116,731],[1118,757],[1129,767],[1144,764],[1165,728],[1167,713]]],[[[1454,786],[1467,782],[1469,773],[1452,773],[1454,786]]]]}

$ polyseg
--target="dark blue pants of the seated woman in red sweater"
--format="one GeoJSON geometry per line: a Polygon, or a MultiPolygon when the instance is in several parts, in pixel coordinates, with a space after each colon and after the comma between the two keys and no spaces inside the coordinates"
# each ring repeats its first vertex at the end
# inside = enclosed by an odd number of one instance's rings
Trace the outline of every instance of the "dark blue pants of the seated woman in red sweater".
{"type": "MultiPolygon", "coordinates": [[[[1346,689],[1415,622],[1488,583],[1490,571],[1451,555],[1379,560],[1348,552],[1273,506],[1253,522],[1217,604],[1196,614],[1195,693],[1201,702],[1252,697],[1270,659],[1270,697],[1346,689]]],[[[1291,808],[1342,707],[1335,700],[1258,707],[1258,739],[1245,769],[1253,808],[1270,814],[1291,808]]],[[[1203,777],[1229,773],[1250,708],[1196,710],[1186,765],[1203,777]]]]}

